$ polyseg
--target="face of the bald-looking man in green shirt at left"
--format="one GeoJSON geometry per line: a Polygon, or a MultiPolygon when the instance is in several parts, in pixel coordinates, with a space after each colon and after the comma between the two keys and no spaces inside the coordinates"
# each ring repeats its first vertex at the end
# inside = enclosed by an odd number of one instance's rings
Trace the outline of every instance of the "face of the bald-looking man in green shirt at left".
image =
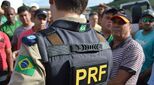
{"type": "Polygon", "coordinates": [[[5,16],[6,16],[6,18],[7,18],[7,20],[9,21],[9,22],[14,22],[15,21],[15,10],[13,10],[13,9],[7,9],[6,11],[5,11],[5,16]]]}

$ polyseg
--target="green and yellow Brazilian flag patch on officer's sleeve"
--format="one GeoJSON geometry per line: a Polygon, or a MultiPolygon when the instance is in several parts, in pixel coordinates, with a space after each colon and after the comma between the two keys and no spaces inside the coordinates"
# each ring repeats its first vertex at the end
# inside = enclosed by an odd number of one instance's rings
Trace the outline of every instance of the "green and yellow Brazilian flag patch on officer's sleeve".
{"type": "Polygon", "coordinates": [[[19,73],[23,73],[25,75],[33,76],[35,72],[35,66],[33,60],[29,56],[22,56],[18,57],[18,62],[15,68],[15,71],[19,73]]]}

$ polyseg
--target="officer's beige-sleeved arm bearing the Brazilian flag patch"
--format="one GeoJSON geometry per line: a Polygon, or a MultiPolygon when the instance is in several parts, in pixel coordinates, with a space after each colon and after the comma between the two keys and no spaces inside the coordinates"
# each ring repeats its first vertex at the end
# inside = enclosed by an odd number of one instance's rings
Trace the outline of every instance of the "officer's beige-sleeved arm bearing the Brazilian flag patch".
{"type": "Polygon", "coordinates": [[[45,85],[45,68],[40,62],[37,44],[22,45],[8,85],[45,85]],[[29,64],[26,62],[29,62],[29,64]],[[22,65],[24,64],[24,69],[22,65]]]}

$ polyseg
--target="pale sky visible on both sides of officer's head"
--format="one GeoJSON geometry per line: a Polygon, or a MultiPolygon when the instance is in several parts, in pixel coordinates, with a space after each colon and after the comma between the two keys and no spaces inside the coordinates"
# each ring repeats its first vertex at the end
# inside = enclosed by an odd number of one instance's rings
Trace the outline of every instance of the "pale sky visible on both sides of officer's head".
{"type": "MultiPolygon", "coordinates": [[[[113,0],[89,0],[88,7],[98,5],[99,3],[109,3],[111,1],[113,0]]],[[[48,0],[23,0],[23,2],[27,5],[37,3],[39,6],[49,6],[48,0]]]]}

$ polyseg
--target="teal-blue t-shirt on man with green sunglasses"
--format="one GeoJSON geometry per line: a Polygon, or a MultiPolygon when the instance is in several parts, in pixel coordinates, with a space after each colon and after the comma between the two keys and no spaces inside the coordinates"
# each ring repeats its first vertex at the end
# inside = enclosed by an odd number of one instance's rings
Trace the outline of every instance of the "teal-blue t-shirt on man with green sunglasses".
{"type": "Polygon", "coordinates": [[[154,62],[154,30],[148,34],[143,34],[143,30],[135,34],[135,40],[141,44],[145,54],[145,62],[141,72],[152,66],[154,62]]]}

